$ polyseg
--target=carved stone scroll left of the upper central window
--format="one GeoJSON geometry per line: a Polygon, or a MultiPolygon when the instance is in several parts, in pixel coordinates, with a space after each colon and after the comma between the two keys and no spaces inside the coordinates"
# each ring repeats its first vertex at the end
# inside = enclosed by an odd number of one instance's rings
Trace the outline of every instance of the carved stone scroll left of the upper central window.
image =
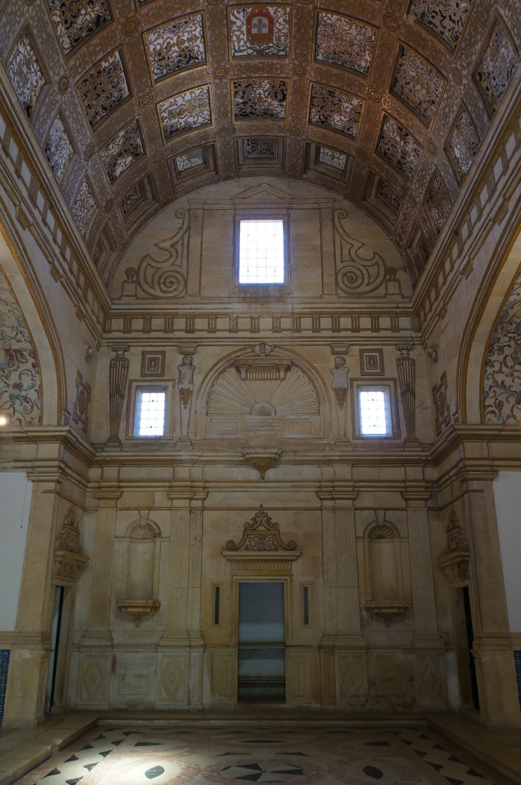
{"type": "Polygon", "coordinates": [[[155,254],[144,256],[137,265],[137,285],[151,297],[180,297],[186,290],[183,258],[188,239],[188,217],[176,210],[181,225],[171,237],[154,243],[155,254]]]}

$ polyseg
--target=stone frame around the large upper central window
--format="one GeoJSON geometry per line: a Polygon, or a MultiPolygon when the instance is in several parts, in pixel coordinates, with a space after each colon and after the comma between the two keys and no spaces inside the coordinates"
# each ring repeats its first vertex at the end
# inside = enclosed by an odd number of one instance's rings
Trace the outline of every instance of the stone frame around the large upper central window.
{"type": "Polygon", "coordinates": [[[236,210],[234,215],[234,263],[233,293],[246,297],[277,297],[278,294],[290,294],[290,215],[286,209],[258,208],[257,210],[236,210]],[[283,264],[284,280],[282,283],[240,283],[240,233],[241,221],[282,221],[284,239],[283,264]]]}

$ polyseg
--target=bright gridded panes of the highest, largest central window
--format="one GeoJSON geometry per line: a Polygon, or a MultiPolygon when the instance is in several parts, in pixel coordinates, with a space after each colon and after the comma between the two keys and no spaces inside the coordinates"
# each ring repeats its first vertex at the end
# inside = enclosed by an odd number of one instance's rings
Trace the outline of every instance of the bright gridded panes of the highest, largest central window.
{"type": "Polygon", "coordinates": [[[284,221],[239,222],[239,283],[284,283],[284,221]]]}

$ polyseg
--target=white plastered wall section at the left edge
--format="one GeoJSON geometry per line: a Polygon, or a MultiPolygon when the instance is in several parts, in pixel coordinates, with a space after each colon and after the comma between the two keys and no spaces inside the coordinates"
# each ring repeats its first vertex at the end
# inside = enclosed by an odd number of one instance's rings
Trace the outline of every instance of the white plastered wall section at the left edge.
{"type": "Polygon", "coordinates": [[[25,472],[0,473],[0,631],[16,626],[32,483],[25,472]]]}

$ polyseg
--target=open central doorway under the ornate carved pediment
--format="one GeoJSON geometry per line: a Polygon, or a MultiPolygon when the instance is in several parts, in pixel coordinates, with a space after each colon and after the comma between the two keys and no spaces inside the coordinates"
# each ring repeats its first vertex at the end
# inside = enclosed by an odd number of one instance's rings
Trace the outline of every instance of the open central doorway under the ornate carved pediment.
{"type": "Polygon", "coordinates": [[[286,699],[284,584],[239,583],[238,692],[242,701],[286,699]]]}

